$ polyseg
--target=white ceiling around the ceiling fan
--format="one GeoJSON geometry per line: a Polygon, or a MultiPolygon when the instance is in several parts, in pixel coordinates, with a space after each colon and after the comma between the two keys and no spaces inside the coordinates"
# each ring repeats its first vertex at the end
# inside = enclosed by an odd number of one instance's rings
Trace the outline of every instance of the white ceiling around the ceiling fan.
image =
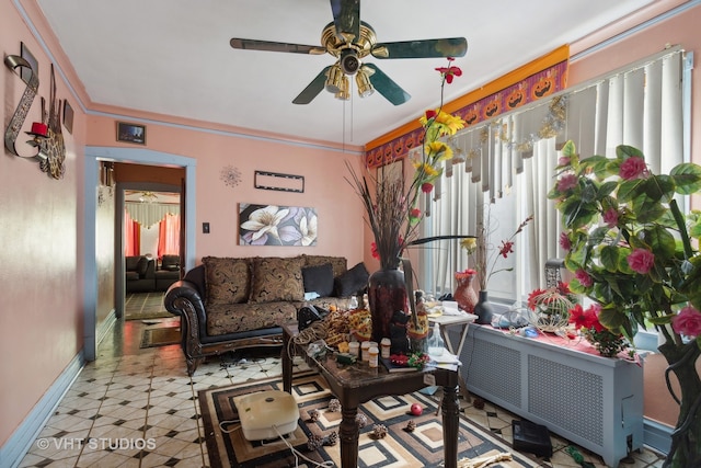
{"type": "MultiPolygon", "coordinates": [[[[92,102],[322,141],[365,145],[439,103],[443,58],[378,60],[412,99],[291,101],[327,65],[234,50],[231,37],[320,45],[329,0],[37,0],[92,102]],[[345,130],[345,132],[344,132],[345,130]]],[[[464,36],[463,76],[446,100],[614,22],[652,0],[379,0],[360,19],[378,43],[464,36]]]]}

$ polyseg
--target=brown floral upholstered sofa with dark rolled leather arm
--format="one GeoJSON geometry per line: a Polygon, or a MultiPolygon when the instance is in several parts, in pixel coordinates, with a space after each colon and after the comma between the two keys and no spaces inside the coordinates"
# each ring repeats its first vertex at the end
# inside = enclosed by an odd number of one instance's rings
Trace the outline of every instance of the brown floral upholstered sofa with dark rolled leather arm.
{"type": "Polygon", "coordinates": [[[280,346],[280,326],[299,308],[347,307],[367,281],[363,263],[347,270],[342,256],[205,256],[168,289],[164,305],[181,317],[181,346],[193,375],[209,355],[280,346]]]}

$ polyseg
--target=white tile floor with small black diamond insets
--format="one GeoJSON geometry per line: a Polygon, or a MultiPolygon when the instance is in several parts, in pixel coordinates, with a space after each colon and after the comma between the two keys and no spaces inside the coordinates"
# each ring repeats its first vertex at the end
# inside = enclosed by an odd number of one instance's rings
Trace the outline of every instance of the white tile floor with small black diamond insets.
{"type": "MultiPolygon", "coordinates": [[[[180,345],[139,349],[145,327],[172,327],[177,319],[118,321],[64,397],[20,467],[208,467],[198,390],[281,374],[276,353],[229,354],[185,373],[180,345]]],[[[304,367],[302,362],[296,362],[304,367]]],[[[512,441],[515,416],[486,403],[462,402],[476,423],[512,441]]],[[[578,467],[552,437],[555,454],[544,467],[578,467]]],[[[597,468],[601,459],[581,449],[597,468]]],[[[621,468],[662,467],[658,455],[633,454],[621,468]]]]}

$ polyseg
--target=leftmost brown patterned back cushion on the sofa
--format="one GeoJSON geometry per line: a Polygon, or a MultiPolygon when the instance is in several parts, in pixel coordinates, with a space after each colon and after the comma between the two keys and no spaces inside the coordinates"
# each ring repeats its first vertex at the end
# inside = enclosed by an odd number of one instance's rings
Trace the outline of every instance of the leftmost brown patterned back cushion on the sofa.
{"type": "Polygon", "coordinates": [[[219,304],[241,304],[251,294],[251,267],[248,259],[205,256],[207,307],[219,304]]]}

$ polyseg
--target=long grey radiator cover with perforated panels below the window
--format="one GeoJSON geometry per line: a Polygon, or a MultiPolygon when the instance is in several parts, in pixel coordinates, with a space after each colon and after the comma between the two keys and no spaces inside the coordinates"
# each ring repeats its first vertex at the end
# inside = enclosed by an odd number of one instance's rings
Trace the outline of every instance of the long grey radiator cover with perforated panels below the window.
{"type": "Polygon", "coordinates": [[[599,454],[616,467],[643,447],[643,369],[471,324],[460,354],[468,390],[599,454]]]}

